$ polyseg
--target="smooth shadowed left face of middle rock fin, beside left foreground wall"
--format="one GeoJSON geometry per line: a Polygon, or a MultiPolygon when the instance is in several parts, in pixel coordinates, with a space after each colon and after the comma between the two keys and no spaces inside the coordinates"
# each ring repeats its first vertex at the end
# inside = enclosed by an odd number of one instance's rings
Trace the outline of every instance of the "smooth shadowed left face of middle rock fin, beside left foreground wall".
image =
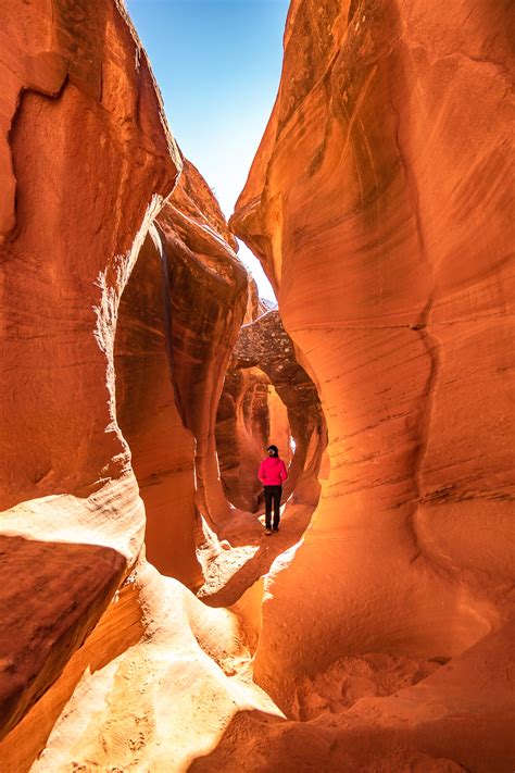
{"type": "Polygon", "coordinates": [[[120,304],[116,415],[145,502],[146,554],[163,574],[202,584],[194,556],[194,438],[175,402],[169,296],[160,236],[147,236],[120,304]]]}

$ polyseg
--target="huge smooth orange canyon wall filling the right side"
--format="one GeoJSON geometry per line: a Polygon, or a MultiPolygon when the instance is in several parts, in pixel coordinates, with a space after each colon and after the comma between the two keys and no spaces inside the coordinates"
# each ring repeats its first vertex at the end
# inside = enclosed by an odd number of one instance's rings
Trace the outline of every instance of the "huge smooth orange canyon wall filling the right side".
{"type": "Polygon", "coordinates": [[[328,423],[321,504],[263,609],[256,674],[286,708],[299,674],[359,653],[459,656],[507,613],[508,16],[472,0],[289,11],[231,223],[328,423]]]}

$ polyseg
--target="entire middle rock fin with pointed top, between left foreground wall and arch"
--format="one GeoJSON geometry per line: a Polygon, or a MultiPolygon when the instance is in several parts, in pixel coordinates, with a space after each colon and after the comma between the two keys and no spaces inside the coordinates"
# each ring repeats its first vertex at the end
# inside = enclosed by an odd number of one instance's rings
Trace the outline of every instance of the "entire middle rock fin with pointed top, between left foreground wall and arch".
{"type": "Polygon", "coordinates": [[[202,584],[197,507],[212,523],[227,512],[212,438],[247,303],[247,273],[231,245],[213,194],[185,160],[140,251],[116,331],[116,408],[146,506],[147,557],[189,586],[202,584]]]}

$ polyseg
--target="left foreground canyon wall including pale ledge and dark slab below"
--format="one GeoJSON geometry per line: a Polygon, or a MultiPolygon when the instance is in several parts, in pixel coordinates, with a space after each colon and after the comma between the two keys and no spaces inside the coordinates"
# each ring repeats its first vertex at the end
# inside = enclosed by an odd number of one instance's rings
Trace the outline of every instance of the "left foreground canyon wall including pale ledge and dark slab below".
{"type": "Polygon", "coordinates": [[[181,160],[118,3],[2,0],[0,17],[0,508],[11,508],[3,560],[11,547],[17,557],[17,585],[1,594],[4,733],[142,546],[113,344],[120,296],[181,160]]]}

